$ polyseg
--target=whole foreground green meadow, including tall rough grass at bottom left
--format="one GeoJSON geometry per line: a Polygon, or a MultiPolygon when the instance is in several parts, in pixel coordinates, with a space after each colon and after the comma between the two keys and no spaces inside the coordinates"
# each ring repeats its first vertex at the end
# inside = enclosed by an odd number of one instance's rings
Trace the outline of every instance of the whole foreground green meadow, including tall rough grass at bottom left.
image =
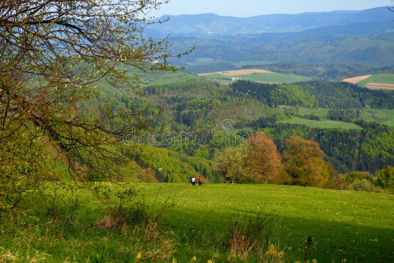
{"type": "MultiPolygon", "coordinates": [[[[48,210],[50,220],[35,218],[36,223],[2,235],[0,261],[294,263],[303,262],[309,236],[313,238],[310,262],[392,262],[394,258],[392,195],[277,185],[142,183],[137,187],[143,194],[137,199],[144,200],[148,213],[161,215],[155,224],[106,229],[108,212],[79,190],[74,195],[86,206],[59,207],[57,213],[66,215],[65,221],[48,210]],[[240,245],[234,248],[235,233],[257,237],[254,252],[240,245]]],[[[143,213],[134,209],[133,214],[143,213]]],[[[241,236],[236,236],[237,244],[245,243],[241,236]]]]}

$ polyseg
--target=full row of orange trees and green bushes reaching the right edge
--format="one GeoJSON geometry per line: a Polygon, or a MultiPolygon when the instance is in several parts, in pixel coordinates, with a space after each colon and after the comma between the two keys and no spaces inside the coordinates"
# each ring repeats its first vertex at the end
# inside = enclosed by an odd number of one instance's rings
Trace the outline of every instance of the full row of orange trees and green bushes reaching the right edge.
{"type": "Polygon", "coordinates": [[[340,175],[326,161],[326,154],[314,140],[291,136],[280,154],[274,141],[263,132],[250,135],[247,142],[228,147],[213,158],[213,171],[230,183],[271,183],[356,191],[394,193],[391,165],[369,172],[340,175]]]}

